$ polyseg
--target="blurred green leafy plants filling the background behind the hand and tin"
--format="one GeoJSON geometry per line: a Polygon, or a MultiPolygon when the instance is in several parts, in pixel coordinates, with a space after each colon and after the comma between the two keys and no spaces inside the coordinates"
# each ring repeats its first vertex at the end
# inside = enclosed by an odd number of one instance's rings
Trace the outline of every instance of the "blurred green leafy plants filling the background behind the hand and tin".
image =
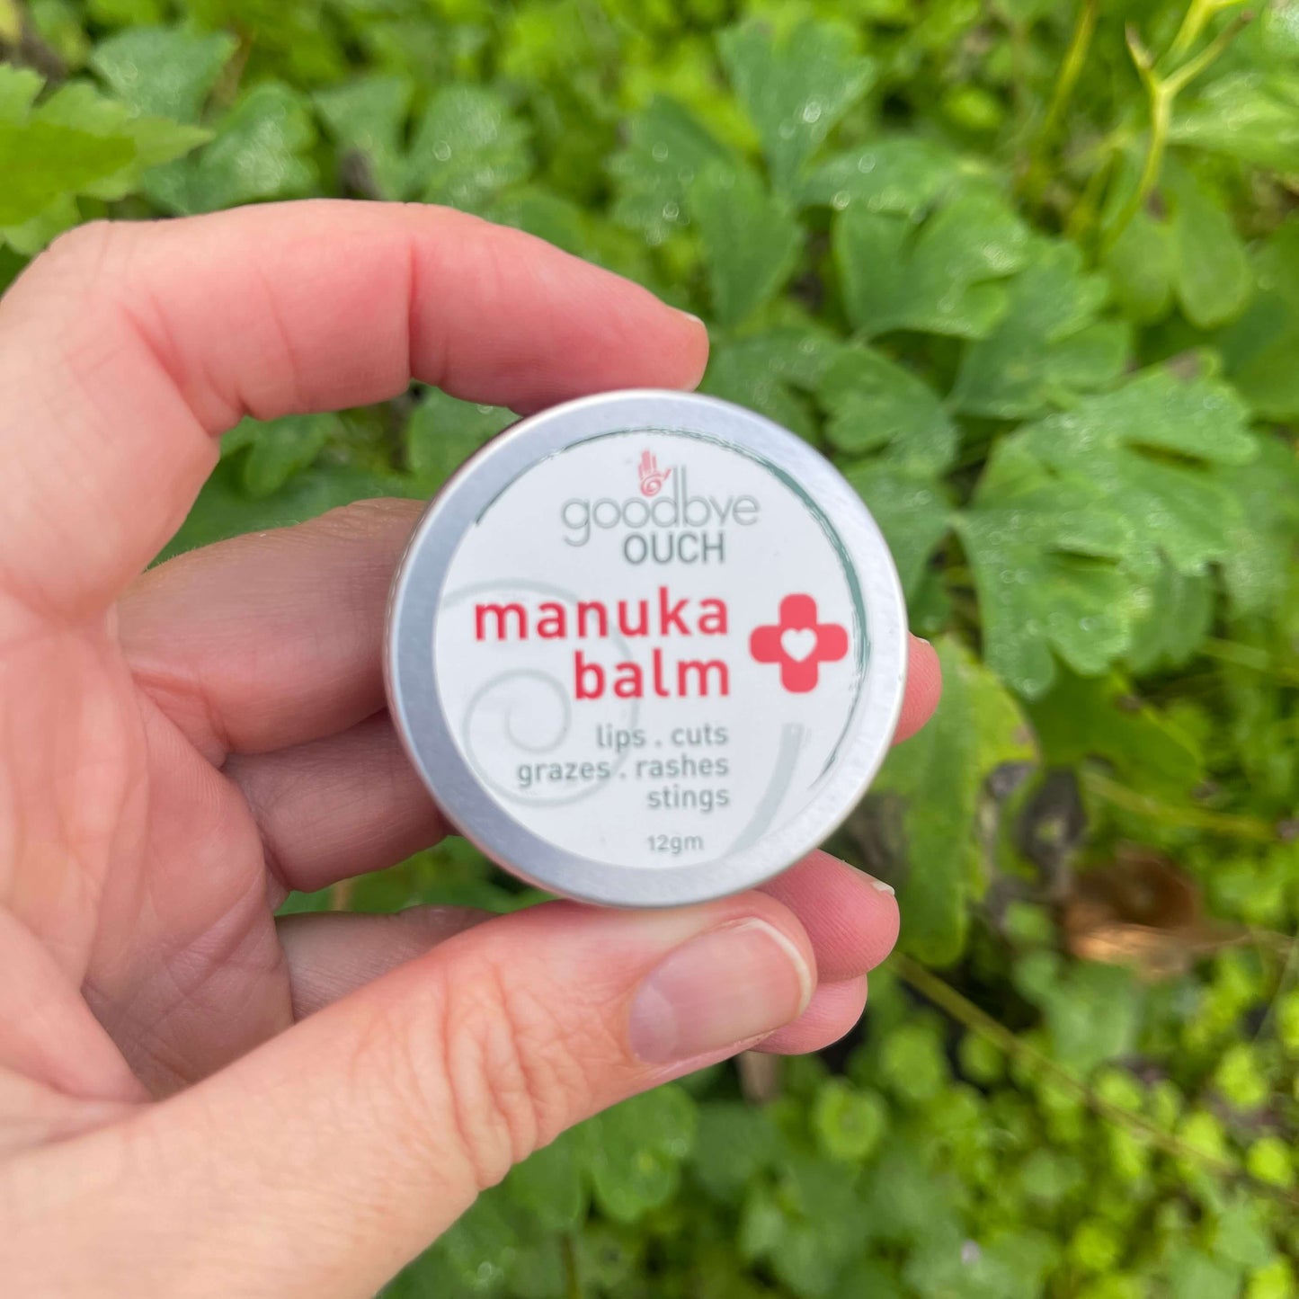
{"type": "MultiPolygon", "coordinates": [[[[904,929],[820,1057],[661,1089],[390,1289],[1299,1294],[1299,3],[0,0],[0,287],[57,233],[444,203],[704,316],[939,646],[831,847],[904,929]]],[[[509,421],[246,421],[173,551],[509,421]]],[[[508,909],[462,843],[295,896],[508,909]]]]}

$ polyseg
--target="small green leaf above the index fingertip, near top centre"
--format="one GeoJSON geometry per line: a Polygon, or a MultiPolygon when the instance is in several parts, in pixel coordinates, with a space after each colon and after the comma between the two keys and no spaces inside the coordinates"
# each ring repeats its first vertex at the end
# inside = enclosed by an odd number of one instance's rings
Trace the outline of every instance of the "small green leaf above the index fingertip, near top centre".
{"type": "Polygon", "coordinates": [[[690,223],[686,192],[709,164],[735,164],[686,108],[661,95],[631,120],[627,144],[609,164],[617,188],[613,217],[661,244],[690,223]]]}

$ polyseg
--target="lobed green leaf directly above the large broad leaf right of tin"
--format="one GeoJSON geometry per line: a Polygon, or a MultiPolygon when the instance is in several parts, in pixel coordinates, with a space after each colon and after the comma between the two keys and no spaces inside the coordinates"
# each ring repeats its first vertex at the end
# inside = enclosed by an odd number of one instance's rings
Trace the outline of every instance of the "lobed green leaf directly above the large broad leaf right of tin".
{"type": "Polygon", "coordinates": [[[1069,405],[1122,374],[1128,326],[1102,321],[1107,284],[1083,274],[1069,243],[1034,239],[1024,269],[1007,284],[999,325],[972,343],[952,391],[957,410],[1031,418],[1069,405]]]}

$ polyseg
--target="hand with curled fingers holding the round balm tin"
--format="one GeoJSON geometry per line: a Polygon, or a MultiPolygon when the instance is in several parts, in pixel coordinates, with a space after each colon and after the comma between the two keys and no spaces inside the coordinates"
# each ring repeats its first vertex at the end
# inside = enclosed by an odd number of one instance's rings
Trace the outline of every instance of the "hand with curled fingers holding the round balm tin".
{"type": "MultiPolygon", "coordinates": [[[[365,1295],[565,1126],[857,1018],[894,899],[813,853],[656,913],[277,921],[433,843],[383,711],[417,505],[140,577],[243,414],[412,377],[530,410],[692,386],[698,321],[512,230],[303,203],[58,240],[0,301],[0,1276],[365,1295]]],[[[912,650],[903,731],[938,669],[912,650]]]]}

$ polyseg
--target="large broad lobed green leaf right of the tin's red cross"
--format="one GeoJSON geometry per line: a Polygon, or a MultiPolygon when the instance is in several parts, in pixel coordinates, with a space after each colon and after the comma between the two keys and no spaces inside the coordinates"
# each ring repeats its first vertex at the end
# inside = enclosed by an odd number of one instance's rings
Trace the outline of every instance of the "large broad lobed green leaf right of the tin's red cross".
{"type": "Polygon", "coordinates": [[[985,661],[1021,695],[1051,686],[1052,651],[1095,674],[1128,648],[1137,594],[1108,561],[1131,552],[1133,523],[1090,478],[1050,474],[1012,438],[994,451],[956,529],[974,574],[985,661]]]}

